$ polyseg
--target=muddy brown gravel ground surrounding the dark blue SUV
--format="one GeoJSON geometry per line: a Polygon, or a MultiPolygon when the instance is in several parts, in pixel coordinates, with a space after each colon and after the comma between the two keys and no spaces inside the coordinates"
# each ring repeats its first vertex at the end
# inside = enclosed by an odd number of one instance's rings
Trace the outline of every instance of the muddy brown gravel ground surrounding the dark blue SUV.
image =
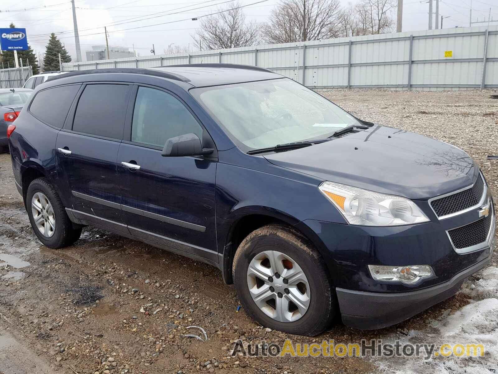
{"type": "MultiPolygon", "coordinates": [[[[498,196],[498,100],[490,92],[331,91],[360,118],[452,143],[482,167],[498,196]]],[[[362,332],[337,323],[315,338],[266,331],[244,312],[215,268],[86,228],[52,250],[36,240],[0,155],[0,374],[33,373],[489,373],[498,371],[498,269],[471,277],[462,292],[394,327],[362,332]],[[474,321],[474,322],[472,322],[474,321]],[[476,321],[480,322],[478,324],[476,321]],[[185,338],[206,330],[205,343],[185,338]],[[197,333],[197,332],[196,332],[197,333]],[[282,345],[361,339],[441,343],[482,339],[484,358],[239,358],[234,340],[282,345]],[[207,362],[210,362],[209,364],[207,362]]]]}

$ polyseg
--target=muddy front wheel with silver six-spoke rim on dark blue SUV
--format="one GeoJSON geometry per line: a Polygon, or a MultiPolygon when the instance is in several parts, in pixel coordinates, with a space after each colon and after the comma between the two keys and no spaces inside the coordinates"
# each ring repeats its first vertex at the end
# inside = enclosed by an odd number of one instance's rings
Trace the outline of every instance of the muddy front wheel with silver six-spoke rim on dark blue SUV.
{"type": "Polygon", "coordinates": [[[265,327],[315,336],[334,317],[323,260],[290,227],[270,224],[250,233],[235,253],[233,278],[244,309],[265,327]]]}

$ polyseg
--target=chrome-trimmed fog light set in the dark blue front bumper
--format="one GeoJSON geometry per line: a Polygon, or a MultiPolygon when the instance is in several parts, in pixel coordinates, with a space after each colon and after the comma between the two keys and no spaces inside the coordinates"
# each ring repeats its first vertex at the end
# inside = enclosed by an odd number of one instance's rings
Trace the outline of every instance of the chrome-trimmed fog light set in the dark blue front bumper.
{"type": "Polygon", "coordinates": [[[412,266],[382,266],[369,265],[372,278],[382,282],[401,282],[415,284],[423,278],[434,276],[434,270],[429,265],[412,266]]]}

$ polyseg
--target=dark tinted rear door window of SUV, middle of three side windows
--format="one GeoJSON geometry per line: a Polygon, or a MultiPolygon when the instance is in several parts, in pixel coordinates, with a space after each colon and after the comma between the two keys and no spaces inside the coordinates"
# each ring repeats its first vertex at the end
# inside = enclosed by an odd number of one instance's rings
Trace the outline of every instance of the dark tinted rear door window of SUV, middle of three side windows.
{"type": "Polygon", "coordinates": [[[123,139],[127,105],[127,85],[89,84],[78,101],[73,131],[123,139]]]}

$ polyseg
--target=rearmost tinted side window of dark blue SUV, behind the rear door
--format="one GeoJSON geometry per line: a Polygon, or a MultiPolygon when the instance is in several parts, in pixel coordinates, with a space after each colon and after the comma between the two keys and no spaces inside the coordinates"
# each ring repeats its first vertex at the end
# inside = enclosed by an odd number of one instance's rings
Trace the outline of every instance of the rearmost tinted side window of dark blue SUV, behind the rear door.
{"type": "Polygon", "coordinates": [[[69,107],[73,103],[80,85],[59,86],[36,94],[29,112],[43,122],[59,129],[64,126],[69,107]]]}

